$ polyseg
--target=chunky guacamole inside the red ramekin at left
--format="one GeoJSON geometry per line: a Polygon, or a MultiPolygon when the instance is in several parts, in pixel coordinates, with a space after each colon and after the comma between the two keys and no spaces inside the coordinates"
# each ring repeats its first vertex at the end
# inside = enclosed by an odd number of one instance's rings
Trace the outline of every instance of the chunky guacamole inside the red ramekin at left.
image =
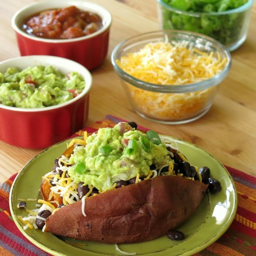
{"type": "Polygon", "coordinates": [[[77,72],[62,74],[52,66],[19,71],[10,67],[0,73],[0,104],[18,108],[44,108],[73,99],[84,89],[77,72]]]}

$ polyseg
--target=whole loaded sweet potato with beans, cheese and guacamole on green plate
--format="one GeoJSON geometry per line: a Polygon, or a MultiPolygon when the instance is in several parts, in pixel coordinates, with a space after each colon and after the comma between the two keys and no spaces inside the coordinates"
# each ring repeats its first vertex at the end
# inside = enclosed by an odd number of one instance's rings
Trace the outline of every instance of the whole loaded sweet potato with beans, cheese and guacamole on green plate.
{"type": "Polygon", "coordinates": [[[110,244],[156,239],[195,212],[209,180],[212,192],[221,189],[207,167],[189,163],[175,140],[120,122],[69,143],[43,177],[35,225],[110,244]]]}

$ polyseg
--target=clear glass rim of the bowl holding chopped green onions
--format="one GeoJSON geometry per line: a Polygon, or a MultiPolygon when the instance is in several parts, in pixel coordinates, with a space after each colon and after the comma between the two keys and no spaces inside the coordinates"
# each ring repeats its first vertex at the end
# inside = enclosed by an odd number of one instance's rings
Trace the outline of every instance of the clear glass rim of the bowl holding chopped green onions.
{"type": "Polygon", "coordinates": [[[166,9],[168,9],[169,11],[176,12],[176,13],[183,14],[183,15],[189,15],[189,16],[193,16],[193,17],[200,17],[201,15],[211,15],[211,16],[217,15],[218,16],[218,15],[232,14],[235,12],[244,12],[253,5],[254,0],[248,0],[248,2],[242,6],[236,8],[236,9],[232,9],[232,10],[228,10],[228,11],[224,11],[224,12],[186,12],[186,11],[182,11],[182,10],[179,10],[176,8],[172,8],[168,4],[164,3],[163,0],[157,0],[157,2],[160,5],[162,5],[163,7],[165,7],[166,9]]]}

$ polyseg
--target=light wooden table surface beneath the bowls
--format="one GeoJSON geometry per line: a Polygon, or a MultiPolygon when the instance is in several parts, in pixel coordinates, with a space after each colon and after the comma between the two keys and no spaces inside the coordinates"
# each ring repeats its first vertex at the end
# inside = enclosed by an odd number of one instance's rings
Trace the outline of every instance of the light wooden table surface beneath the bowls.
{"type": "MultiPolygon", "coordinates": [[[[11,26],[14,13],[37,0],[2,1],[0,7],[0,61],[20,55],[11,26]]],[[[110,45],[105,62],[92,71],[89,119],[86,125],[112,114],[204,148],[221,163],[256,176],[256,3],[247,40],[231,52],[232,67],[221,83],[209,112],[184,125],[150,122],[131,108],[110,56],[120,41],[159,29],[157,0],[91,0],[111,12],[110,45]]],[[[0,124],[1,128],[1,124],[0,124]]],[[[18,172],[41,150],[18,148],[0,141],[0,182],[18,172]]]]}

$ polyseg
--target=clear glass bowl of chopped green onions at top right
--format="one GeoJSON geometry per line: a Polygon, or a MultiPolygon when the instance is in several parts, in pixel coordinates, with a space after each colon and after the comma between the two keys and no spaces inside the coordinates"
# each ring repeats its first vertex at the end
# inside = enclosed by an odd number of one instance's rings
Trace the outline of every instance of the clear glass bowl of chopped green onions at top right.
{"type": "Polygon", "coordinates": [[[254,0],[157,0],[161,29],[208,35],[230,51],[247,37],[254,0]]]}

